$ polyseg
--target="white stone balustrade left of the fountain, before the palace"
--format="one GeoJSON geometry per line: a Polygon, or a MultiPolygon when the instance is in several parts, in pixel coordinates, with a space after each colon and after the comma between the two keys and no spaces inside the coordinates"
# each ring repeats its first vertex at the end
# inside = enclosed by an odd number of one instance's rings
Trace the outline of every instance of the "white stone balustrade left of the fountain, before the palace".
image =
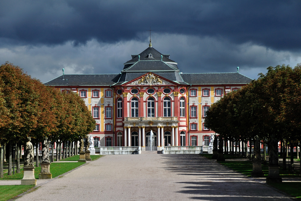
{"type": "Polygon", "coordinates": [[[141,146],[102,146],[95,147],[95,153],[110,154],[141,154],[141,146]]]}

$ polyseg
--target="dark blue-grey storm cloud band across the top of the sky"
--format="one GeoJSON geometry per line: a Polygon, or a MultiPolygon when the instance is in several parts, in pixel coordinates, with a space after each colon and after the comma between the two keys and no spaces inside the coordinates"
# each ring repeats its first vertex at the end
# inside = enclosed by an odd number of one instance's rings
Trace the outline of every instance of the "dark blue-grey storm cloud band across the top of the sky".
{"type": "Polygon", "coordinates": [[[214,36],[299,50],[300,1],[1,1],[2,43],[144,40],[142,32],[214,36]]]}

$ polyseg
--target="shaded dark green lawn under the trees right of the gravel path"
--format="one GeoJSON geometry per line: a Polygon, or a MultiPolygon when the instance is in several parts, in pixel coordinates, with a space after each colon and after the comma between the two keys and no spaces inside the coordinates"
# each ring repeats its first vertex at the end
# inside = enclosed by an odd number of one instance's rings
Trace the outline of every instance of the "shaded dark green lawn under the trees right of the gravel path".
{"type": "MultiPolygon", "coordinates": [[[[203,154],[204,157],[211,159],[212,154],[203,154]]],[[[241,157],[232,156],[232,155],[224,155],[225,161],[219,162],[222,165],[225,165],[232,170],[235,170],[239,173],[242,173],[248,177],[251,176],[251,172],[253,170],[252,161],[248,159],[243,159],[241,157]]],[[[268,165],[262,165],[262,171],[264,172],[264,177],[268,176],[268,165]]],[[[301,175],[297,173],[289,172],[288,170],[284,171],[282,168],[279,170],[279,174],[281,177],[290,177],[290,178],[300,178],[301,175]]],[[[290,194],[301,200],[301,182],[282,182],[275,184],[268,184],[272,187],[277,188],[278,190],[290,194]]]]}

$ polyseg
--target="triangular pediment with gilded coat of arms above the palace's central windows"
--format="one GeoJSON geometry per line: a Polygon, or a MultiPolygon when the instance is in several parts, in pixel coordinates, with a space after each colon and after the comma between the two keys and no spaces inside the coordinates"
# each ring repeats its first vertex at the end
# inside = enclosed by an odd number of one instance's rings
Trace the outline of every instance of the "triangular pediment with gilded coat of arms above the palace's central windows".
{"type": "Polygon", "coordinates": [[[141,85],[141,86],[155,86],[155,85],[173,85],[177,84],[171,80],[167,80],[152,72],[146,73],[128,83],[126,85],[141,85]]]}

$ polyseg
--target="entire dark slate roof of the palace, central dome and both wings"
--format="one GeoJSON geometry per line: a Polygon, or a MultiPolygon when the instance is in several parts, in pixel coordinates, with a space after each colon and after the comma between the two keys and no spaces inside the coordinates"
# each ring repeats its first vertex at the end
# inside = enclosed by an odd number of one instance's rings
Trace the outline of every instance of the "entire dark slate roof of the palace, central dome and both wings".
{"type": "Polygon", "coordinates": [[[44,83],[50,86],[110,86],[132,81],[148,72],[175,83],[189,84],[247,84],[252,81],[240,73],[179,73],[177,63],[149,47],[124,64],[119,74],[66,74],[44,83]],[[153,58],[148,58],[151,53],[153,58]],[[161,61],[162,55],[162,61],[161,61]]]}

